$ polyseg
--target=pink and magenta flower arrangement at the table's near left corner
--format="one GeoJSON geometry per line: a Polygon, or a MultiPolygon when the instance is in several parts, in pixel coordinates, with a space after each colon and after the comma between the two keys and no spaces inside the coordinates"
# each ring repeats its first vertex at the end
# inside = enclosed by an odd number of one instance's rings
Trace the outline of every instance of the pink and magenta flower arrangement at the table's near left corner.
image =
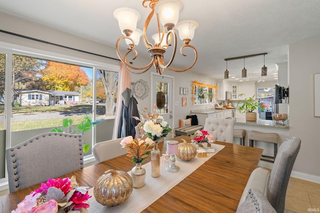
{"type": "Polygon", "coordinates": [[[25,196],[11,213],[67,213],[89,207],[88,187],[79,187],[74,176],[48,179],[41,187],[25,196]]]}

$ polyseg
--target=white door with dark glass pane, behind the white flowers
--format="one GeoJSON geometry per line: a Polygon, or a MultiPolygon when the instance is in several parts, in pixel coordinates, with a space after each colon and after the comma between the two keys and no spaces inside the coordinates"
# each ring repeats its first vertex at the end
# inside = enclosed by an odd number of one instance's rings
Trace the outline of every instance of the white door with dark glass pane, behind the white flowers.
{"type": "Polygon", "coordinates": [[[166,122],[172,126],[172,77],[163,76],[158,74],[152,74],[152,85],[151,85],[151,109],[156,103],[157,112],[164,118],[166,122]]]}

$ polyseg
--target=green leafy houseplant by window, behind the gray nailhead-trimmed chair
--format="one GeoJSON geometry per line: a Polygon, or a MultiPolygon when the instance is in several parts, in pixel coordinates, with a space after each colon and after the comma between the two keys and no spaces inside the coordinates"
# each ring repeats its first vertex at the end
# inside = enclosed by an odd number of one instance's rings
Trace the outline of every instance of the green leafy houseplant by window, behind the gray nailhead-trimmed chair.
{"type": "MultiPolygon", "coordinates": [[[[64,118],[62,120],[62,128],[67,128],[68,129],[68,134],[78,134],[78,132],[80,132],[81,136],[83,136],[83,133],[90,130],[92,126],[101,123],[102,121],[104,121],[104,119],[100,119],[100,120],[96,120],[94,122],[92,122],[91,118],[89,117],[88,114],[85,114],[84,116],[84,120],[79,123],[79,125],[77,126],[78,130],[72,129],[72,119],[67,119],[64,118]]],[[[60,132],[60,133],[64,133],[63,129],[60,129],[58,127],[54,127],[50,132],[60,132]]],[[[84,144],[83,145],[83,152],[87,153],[89,151],[89,144],[84,144]]]]}

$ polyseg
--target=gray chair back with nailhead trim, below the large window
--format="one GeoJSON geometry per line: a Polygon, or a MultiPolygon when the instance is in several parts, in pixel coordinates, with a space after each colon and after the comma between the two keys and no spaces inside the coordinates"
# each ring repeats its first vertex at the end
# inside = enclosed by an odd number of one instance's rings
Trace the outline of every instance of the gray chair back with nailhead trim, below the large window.
{"type": "Polygon", "coordinates": [[[49,132],[5,150],[9,192],[83,168],[82,136],[49,132]]]}

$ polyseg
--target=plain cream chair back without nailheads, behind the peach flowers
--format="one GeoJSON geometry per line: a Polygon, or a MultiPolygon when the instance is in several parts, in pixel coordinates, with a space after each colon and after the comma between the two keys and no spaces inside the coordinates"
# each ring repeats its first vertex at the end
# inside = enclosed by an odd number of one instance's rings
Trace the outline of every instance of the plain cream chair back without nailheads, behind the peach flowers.
{"type": "Polygon", "coordinates": [[[117,138],[113,140],[103,141],[94,144],[92,148],[92,154],[97,163],[106,161],[120,155],[126,154],[126,149],[122,149],[120,142],[123,138],[117,138]]]}

